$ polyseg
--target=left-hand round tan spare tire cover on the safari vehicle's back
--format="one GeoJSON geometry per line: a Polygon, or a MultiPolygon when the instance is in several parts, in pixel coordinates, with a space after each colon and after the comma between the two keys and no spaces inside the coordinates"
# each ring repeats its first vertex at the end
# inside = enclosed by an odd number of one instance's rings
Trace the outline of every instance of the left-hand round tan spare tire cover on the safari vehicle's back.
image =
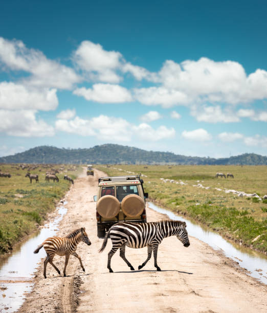
{"type": "Polygon", "coordinates": [[[120,211],[120,202],[115,196],[105,195],[97,202],[97,212],[104,218],[115,217],[120,211]]]}

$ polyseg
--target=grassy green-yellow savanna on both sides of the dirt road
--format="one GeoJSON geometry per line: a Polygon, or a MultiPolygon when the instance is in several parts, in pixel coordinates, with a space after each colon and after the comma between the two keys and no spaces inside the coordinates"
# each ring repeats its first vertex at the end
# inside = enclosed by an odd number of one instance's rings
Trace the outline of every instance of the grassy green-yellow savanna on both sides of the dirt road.
{"type": "MultiPolygon", "coordinates": [[[[263,197],[267,194],[267,166],[96,167],[108,175],[141,172],[145,192],[149,193],[152,202],[197,220],[239,244],[267,252],[267,200],[225,193],[225,189],[234,189],[263,197]],[[216,178],[216,172],[232,173],[234,178],[216,178]]],[[[2,164],[0,169],[11,174],[10,178],[0,177],[0,253],[5,253],[18,240],[38,229],[47,213],[54,210],[70,188],[70,182],[63,180],[64,174],[75,178],[81,167],[38,165],[30,172],[38,174],[39,183],[33,180],[32,184],[29,177],[25,177],[27,168],[2,164]],[[58,183],[45,181],[45,174],[51,168],[59,169],[58,183]]]]}

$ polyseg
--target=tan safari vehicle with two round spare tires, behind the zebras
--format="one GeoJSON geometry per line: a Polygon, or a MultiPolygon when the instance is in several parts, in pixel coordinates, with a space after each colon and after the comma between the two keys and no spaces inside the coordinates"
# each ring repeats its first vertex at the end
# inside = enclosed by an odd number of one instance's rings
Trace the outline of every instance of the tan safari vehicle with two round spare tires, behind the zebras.
{"type": "Polygon", "coordinates": [[[98,194],[94,196],[96,205],[97,236],[119,221],[146,222],[143,180],[140,175],[108,176],[98,180],[98,194]]]}

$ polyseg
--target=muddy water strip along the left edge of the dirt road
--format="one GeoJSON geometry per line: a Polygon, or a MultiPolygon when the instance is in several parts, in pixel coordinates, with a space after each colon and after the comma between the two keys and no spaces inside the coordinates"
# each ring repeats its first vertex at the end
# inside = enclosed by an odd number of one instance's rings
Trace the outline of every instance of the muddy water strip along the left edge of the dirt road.
{"type": "Polygon", "coordinates": [[[14,312],[25,299],[25,294],[33,287],[32,279],[36,266],[46,256],[44,249],[38,254],[33,250],[46,238],[54,236],[58,223],[66,213],[63,203],[57,207],[58,216],[48,222],[33,237],[18,246],[8,257],[0,258],[0,312],[14,312]]]}

